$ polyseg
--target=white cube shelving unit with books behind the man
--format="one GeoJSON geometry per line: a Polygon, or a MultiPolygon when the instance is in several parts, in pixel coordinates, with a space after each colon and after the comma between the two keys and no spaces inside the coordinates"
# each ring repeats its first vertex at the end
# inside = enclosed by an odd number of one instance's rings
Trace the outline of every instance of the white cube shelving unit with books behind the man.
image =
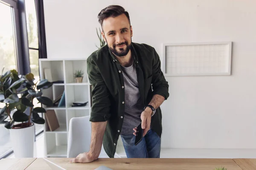
{"type": "Polygon", "coordinates": [[[70,119],[90,115],[91,96],[90,83],[87,76],[87,62],[86,59],[39,59],[40,79],[44,79],[44,69],[46,68],[51,70],[52,81],[62,80],[64,83],[53,84],[51,88],[44,89],[42,91],[43,96],[55,100],[65,91],[65,106],[47,108],[43,105],[46,110],[55,111],[60,125],[55,131],[50,131],[46,120],[44,126],[45,156],[67,157],[67,139],[70,119]],[[73,78],[73,74],[76,70],[84,71],[82,83],[76,83],[73,78]],[[73,102],[88,103],[84,107],[71,107],[73,102]]]}

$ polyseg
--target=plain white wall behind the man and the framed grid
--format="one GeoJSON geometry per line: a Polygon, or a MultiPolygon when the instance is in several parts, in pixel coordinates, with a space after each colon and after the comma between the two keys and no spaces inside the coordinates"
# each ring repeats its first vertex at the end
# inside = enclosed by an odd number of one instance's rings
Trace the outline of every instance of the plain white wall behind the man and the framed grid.
{"type": "Polygon", "coordinates": [[[44,0],[48,58],[88,57],[99,44],[97,14],[130,14],[133,42],[232,41],[232,75],[166,77],[162,147],[256,148],[255,0],[44,0]],[[74,1],[72,1],[74,2],[74,1]]]}

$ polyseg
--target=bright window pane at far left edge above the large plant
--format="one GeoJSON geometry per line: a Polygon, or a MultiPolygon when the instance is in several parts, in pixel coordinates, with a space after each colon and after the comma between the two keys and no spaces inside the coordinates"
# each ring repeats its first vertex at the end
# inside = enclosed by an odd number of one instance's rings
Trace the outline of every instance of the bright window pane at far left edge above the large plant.
{"type": "Polygon", "coordinates": [[[16,69],[15,36],[12,23],[12,8],[0,3],[0,74],[16,69]]]}

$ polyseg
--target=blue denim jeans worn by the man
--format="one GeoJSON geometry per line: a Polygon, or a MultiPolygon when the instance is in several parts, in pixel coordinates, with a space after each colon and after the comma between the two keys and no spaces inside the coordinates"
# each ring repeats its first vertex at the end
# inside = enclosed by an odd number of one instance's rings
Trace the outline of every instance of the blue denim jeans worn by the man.
{"type": "Polygon", "coordinates": [[[139,144],[134,135],[121,135],[127,158],[160,158],[161,139],[153,130],[148,130],[139,144]]]}

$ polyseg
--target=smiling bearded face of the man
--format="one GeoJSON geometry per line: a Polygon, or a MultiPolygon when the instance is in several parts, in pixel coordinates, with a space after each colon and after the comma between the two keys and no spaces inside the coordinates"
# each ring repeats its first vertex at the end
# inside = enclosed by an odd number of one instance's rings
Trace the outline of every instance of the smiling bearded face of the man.
{"type": "Polygon", "coordinates": [[[102,23],[102,36],[108,48],[118,57],[124,57],[131,49],[132,27],[125,14],[108,17],[102,23]]]}

